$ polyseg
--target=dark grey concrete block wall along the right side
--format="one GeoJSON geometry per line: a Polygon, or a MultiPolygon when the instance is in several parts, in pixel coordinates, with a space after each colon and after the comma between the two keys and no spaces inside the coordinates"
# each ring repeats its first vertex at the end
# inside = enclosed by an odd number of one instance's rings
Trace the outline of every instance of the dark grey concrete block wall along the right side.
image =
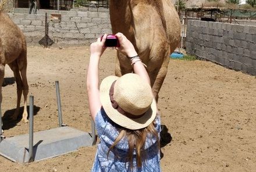
{"type": "Polygon", "coordinates": [[[186,36],[187,53],[256,75],[255,26],[189,20],[186,36]]]}

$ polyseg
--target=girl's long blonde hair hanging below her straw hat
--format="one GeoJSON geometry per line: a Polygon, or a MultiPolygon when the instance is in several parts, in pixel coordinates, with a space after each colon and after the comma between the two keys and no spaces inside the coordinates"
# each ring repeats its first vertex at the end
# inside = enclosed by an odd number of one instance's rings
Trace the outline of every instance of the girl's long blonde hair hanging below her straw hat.
{"type": "MultiPolygon", "coordinates": [[[[145,160],[145,158],[147,158],[145,155],[144,146],[145,146],[145,141],[148,134],[150,134],[150,136],[152,137],[157,138],[158,149],[160,148],[158,132],[155,129],[155,126],[156,126],[156,123],[154,120],[149,126],[139,130],[129,130],[129,129],[120,127],[120,133],[118,137],[116,137],[115,142],[113,142],[113,144],[109,148],[107,156],[109,155],[109,152],[118,144],[118,142],[122,140],[123,137],[126,137],[128,141],[128,146],[129,146],[126,162],[129,162],[129,167],[133,169],[133,151],[135,148],[136,164],[137,164],[137,167],[141,167],[143,164],[143,161],[145,160]]],[[[115,156],[118,157],[118,155],[116,154],[115,156]]]]}

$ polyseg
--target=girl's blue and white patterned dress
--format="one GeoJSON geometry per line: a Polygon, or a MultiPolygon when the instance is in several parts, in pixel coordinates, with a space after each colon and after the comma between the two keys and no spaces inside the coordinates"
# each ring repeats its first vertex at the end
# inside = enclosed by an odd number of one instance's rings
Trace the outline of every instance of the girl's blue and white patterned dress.
{"type": "MultiPolygon", "coordinates": [[[[159,115],[157,115],[157,117],[155,118],[155,122],[157,124],[156,129],[158,132],[158,137],[160,138],[159,133],[161,130],[161,122],[159,115]]],[[[112,151],[109,151],[109,155],[107,158],[109,147],[111,147],[116,137],[118,137],[119,131],[116,129],[116,124],[108,118],[103,108],[101,108],[101,110],[98,111],[95,117],[95,126],[97,129],[98,137],[100,138],[100,142],[98,144],[93,169],[91,171],[161,171],[160,153],[157,145],[157,138],[152,137],[152,135],[147,136],[147,140],[145,142],[145,151],[147,151],[147,159],[145,159],[141,168],[136,167],[136,152],[134,150],[133,170],[130,170],[129,162],[126,162],[128,142],[125,138],[122,138],[122,140],[120,140],[118,145],[116,145],[114,148],[116,155],[118,155],[119,157],[116,157],[112,151]]]]}

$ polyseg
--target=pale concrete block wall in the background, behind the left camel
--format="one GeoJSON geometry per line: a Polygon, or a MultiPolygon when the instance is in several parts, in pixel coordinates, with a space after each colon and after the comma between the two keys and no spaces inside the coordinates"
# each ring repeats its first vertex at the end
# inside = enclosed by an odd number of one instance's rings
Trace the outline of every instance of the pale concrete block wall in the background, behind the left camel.
{"type": "MultiPolygon", "coordinates": [[[[48,16],[48,35],[55,44],[90,45],[102,34],[112,33],[108,12],[74,10],[61,14],[61,21],[49,20],[48,16]]],[[[22,29],[27,43],[38,43],[45,36],[45,14],[9,13],[9,16],[22,29]]]]}

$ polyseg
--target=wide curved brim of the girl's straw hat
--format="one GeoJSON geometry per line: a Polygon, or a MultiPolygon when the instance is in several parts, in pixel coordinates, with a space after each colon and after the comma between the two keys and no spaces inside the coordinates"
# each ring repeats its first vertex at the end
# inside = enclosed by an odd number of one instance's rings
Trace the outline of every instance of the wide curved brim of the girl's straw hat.
{"type": "Polygon", "coordinates": [[[106,115],[108,115],[113,122],[126,129],[138,130],[147,127],[155,119],[157,114],[157,103],[155,99],[151,103],[151,108],[140,118],[128,118],[127,116],[120,114],[120,112],[112,107],[109,97],[109,89],[111,88],[112,83],[118,78],[118,76],[108,76],[102,80],[101,86],[99,87],[99,97],[106,115]]]}

